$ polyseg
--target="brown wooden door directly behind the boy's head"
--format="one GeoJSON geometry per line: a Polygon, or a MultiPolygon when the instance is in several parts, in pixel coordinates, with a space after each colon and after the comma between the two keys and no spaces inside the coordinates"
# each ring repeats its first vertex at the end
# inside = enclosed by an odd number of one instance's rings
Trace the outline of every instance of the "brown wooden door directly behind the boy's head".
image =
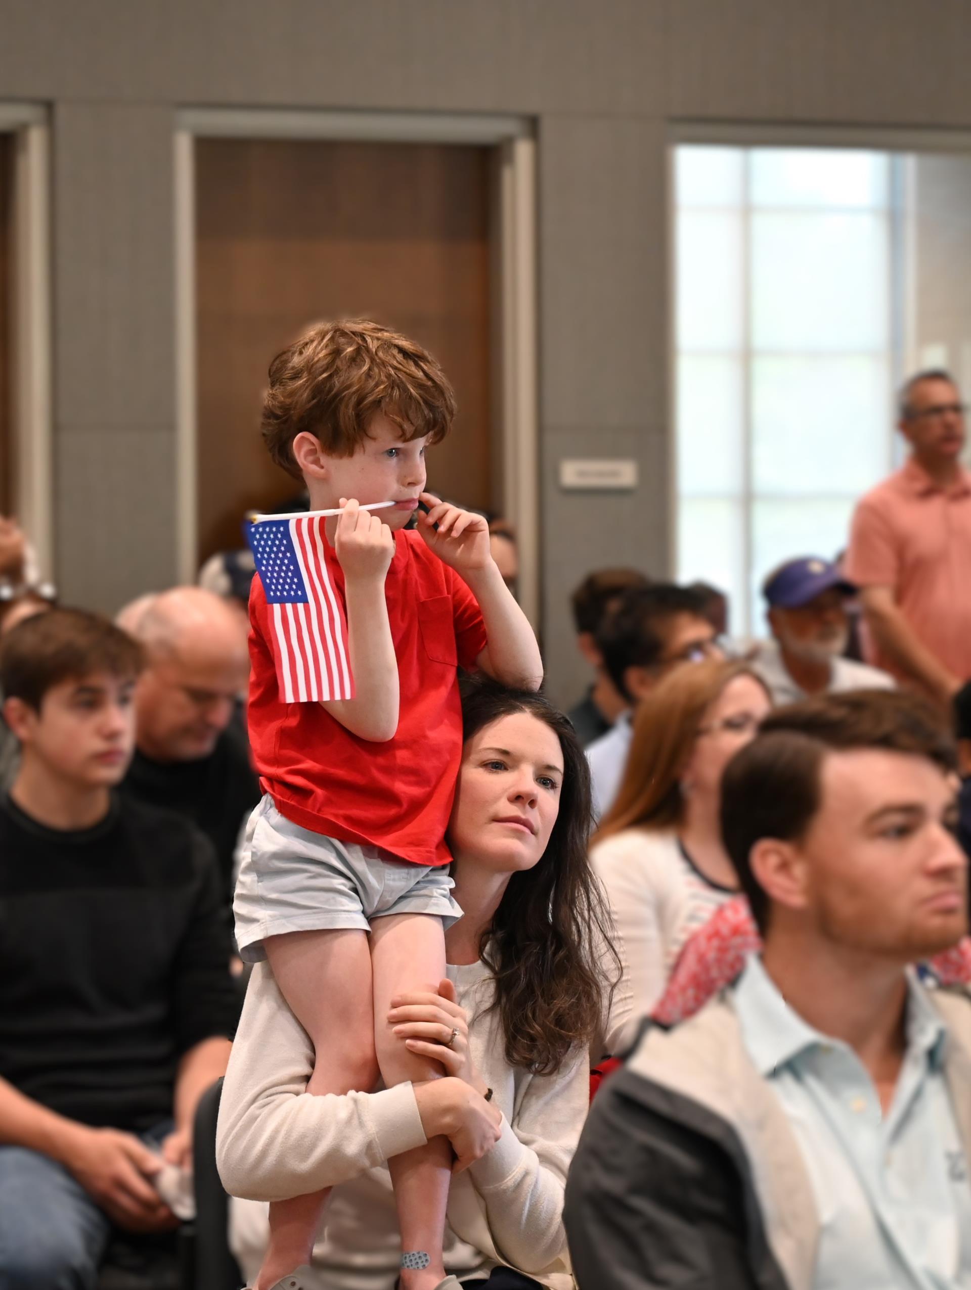
{"type": "Polygon", "coordinates": [[[458,417],[429,486],[493,499],[489,148],[196,142],[199,560],[300,485],[260,439],[270,360],[309,322],[371,317],[426,346],[458,417]]]}

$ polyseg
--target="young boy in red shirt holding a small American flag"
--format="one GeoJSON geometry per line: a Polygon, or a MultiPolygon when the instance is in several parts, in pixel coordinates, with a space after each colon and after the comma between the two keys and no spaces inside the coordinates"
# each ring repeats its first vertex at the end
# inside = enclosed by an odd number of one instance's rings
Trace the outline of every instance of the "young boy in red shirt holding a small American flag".
{"type": "MultiPolygon", "coordinates": [[[[457,668],[542,681],[484,517],[425,491],[425,450],[453,415],[435,360],[374,322],[318,324],[270,366],[270,454],[303,480],[311,511],[341,513],[252,529],[249,728],[265,797],[243,848],[236,940],[244,958],[269,958],[314,1041],[310,1093],[443,1073],[404,1050],[387,1013],[398,993],[438,989],[444,928],[461,917],[444,841],[462,749],[457,668]],[[405,529],[420,504],[427,513],[405,529]]],[[[390,1166],[402,1290],[451,1286],[448,1142],[390,1166]]],[[[258,1290],[302,1284],[325,1198],[271,1205],[258,1290]]]]}

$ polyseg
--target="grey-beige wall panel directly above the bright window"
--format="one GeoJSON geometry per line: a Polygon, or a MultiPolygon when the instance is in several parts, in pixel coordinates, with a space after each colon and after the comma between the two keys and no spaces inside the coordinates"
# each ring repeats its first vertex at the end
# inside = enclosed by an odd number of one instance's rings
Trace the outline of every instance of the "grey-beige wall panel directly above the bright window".
{"type": "Polygon", "coordinates": [[[674,117],[971,123],[967,0],[666,0],[674,117]]]}

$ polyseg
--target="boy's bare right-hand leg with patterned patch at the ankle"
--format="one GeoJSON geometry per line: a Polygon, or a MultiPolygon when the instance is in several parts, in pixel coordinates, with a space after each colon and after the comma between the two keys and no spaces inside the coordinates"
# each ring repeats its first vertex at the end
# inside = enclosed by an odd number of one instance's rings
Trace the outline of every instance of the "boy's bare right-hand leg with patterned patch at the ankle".
{"type": "MultiPolygon", "coordinates": [[[[445,938],[442,920],[426,913],[402,913],[371,924],[371,961],[374,970],[374,1045],[385,1084],[435,1080],[438,1062],[416,1057],[391,1033],[387,1013],[402,991],[438,993],[445,973],[445,938]]],[[[402,1250],[427,1254],[421,1269],[402,1269],[402,1290],[434,1290],[445,1276],[444,1244],[452,1148],[447,1138],[405,1151],[387,1162],[394,1184],[402,1250]]]]}

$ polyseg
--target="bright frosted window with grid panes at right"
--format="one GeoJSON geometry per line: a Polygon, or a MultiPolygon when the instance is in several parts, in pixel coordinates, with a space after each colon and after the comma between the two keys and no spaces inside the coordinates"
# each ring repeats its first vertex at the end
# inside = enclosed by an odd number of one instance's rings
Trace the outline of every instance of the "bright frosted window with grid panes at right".
{"type": "Polygon", "coordinates": [[[900,190],[887,152],[675,151],[678,573],[728,592],[737,633],[892,463],[900,190]]]}

